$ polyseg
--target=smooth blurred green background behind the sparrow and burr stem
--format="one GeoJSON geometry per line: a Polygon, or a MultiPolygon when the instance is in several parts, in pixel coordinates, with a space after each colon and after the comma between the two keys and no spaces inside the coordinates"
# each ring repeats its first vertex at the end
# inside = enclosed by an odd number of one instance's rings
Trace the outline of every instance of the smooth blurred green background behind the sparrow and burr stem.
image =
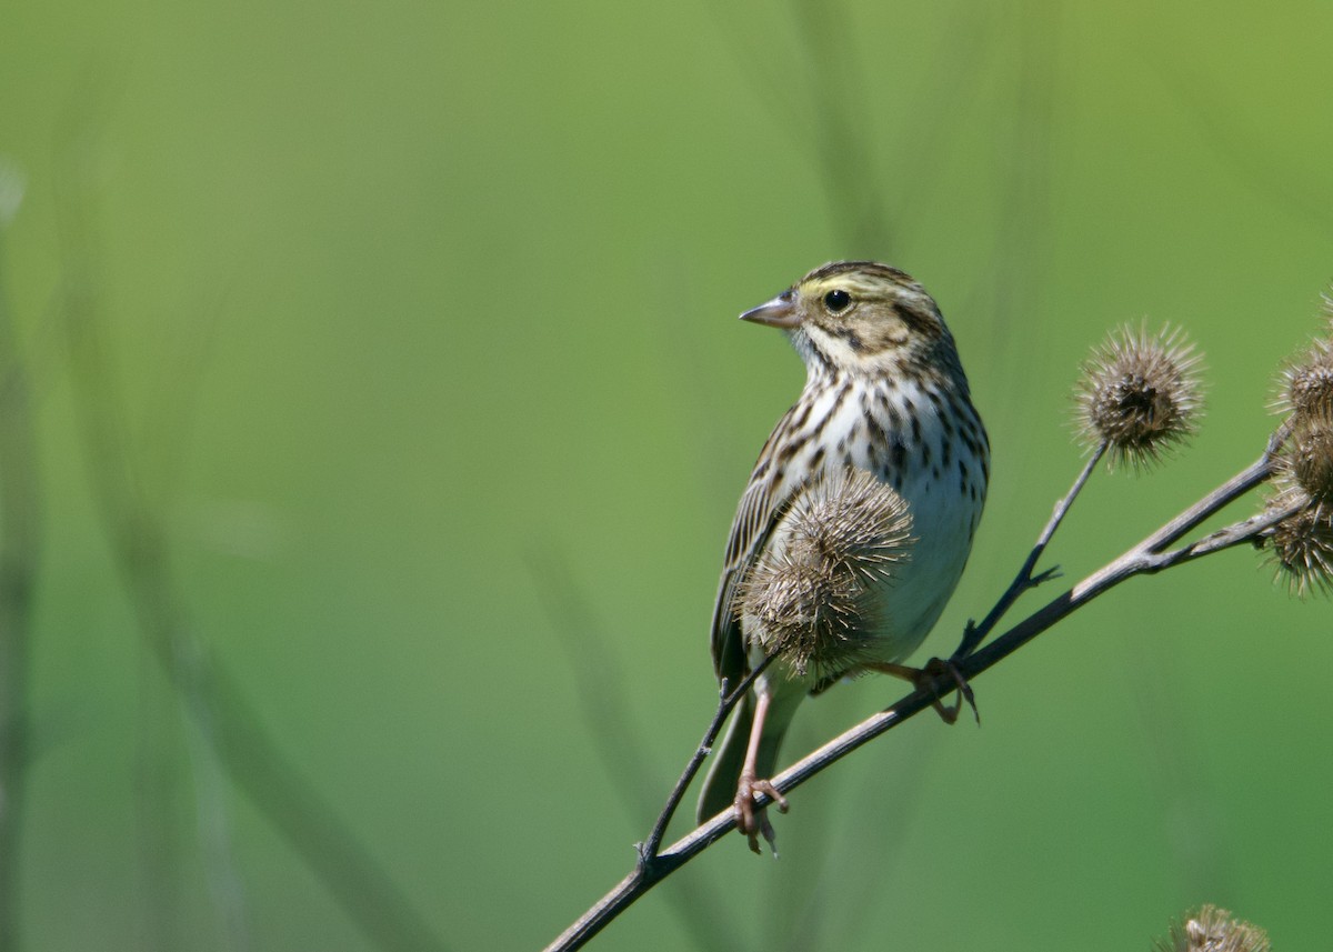
{"type": "MultiPolygon", "coordinates": [[[[1094,479],[1050,553],[1073,577],[1258,455],[1333,277],[1322,1],[3,19],[41,513],[24,949],[377,948],[147,648],[80,407],[123,427],[175,649],[444,947],[533,948],[631,869],[712,711],[722,543],[802,380],[741,309],[868,256],[949,319],[994,476],[924,659],[1077,471],[1108,328],[1186,327],[1209,413],[1165,471],[1094,479]]],[[[1136,580],[980,679],[981,729],[881,739],[797,792],[780,861],[729,837],[597,944],[1146,949],[1213,901],[1320,948],[1329,621],[1245,551],[1136,580]]],[[[829,692],[788,752],[901,693],[829,692]]]]}

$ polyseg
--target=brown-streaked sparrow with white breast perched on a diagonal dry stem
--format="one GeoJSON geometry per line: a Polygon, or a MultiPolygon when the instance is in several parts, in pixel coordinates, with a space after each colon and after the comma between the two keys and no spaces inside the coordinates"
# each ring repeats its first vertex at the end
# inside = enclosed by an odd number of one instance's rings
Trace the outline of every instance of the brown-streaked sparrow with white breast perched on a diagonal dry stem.
{"type": "Polygon", "coordinates": [[[741,315],[786,331],[806,383],[777,423],[741,496],[713,609],[713,668],[737,684],[764,657],[740,593],[760,561],[790,536],[793,503],[817,477],[866,471],[909,507],[909,555],[873,592],[873,629],[857,632],[868,651],[840,671],[797,671],[777,659],[737,707],[698,800],[698,819],[734,805],[740,832],[758,852],[772,839],[760,792],[782,735],[805,695],[845,675],[901,675],[900,661],[934,625],[962,573],[981,519],[990,444],[972,407],[968,379],[934,300],[904,272],[872,261],[837,261],[741,315]]]}

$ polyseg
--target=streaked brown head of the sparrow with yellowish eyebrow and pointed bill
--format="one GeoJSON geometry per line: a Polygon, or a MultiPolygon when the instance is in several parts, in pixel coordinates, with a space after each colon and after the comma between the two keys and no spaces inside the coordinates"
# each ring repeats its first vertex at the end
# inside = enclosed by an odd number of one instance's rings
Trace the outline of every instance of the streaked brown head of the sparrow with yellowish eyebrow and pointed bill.
{"type": "Polygon", "coordinates": [[[874,261],[816,268],[741,320],[786,331],[812,372],[901,377],[949,372],[958,363],[925,288],[874,261]]]}

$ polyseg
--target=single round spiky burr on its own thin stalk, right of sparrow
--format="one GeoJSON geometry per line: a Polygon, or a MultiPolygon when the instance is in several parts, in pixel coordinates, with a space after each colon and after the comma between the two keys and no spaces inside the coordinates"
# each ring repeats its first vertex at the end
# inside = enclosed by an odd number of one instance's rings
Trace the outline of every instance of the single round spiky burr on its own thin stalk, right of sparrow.
{"type": "Polygon", "coordinates": [[[1106,444],[1112,465],[1136,468],[1161,459],[1193,435],[1202,411],[1200,357],[1180,331],[1125,327],[1082,364],[1077,408],[1080,433],[1106,444]]]}

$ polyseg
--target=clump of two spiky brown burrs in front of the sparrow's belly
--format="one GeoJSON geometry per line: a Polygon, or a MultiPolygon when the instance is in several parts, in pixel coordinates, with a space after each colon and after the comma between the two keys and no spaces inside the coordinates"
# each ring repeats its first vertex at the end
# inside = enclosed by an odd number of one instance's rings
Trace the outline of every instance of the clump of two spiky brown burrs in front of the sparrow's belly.
{"type": "Polygon", "coordinates": [[[797,493],[788,525],[785,545],[769,547],[741,588],[741,623],[797,675],[840,673],[870,647],[870,583],[908,556],[912,515],[893,487],[849,468],[797,493]]]}

